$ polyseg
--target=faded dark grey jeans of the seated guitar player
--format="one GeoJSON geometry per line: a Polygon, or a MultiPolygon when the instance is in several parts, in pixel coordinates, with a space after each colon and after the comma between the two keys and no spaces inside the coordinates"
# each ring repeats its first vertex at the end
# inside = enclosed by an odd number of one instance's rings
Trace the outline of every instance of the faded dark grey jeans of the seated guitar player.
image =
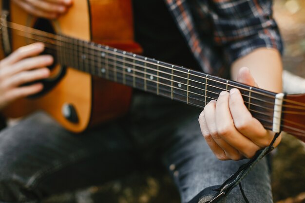
{"type": "MultiPolygon", "coordinates": [[[[201,135],[201,110],[136,93],[123,118],[73,134],[44,113],[0,133],[0,202],[37,203],[55,193],[117,179],[163,163],[183,203],[220,185],[243,161],[219,161],[201,135]]],[[[242,182],[251,203],[272,202],[266,160],[242,182]]],[[[244,202],[234,188],[223,202],[244,202]]]]}

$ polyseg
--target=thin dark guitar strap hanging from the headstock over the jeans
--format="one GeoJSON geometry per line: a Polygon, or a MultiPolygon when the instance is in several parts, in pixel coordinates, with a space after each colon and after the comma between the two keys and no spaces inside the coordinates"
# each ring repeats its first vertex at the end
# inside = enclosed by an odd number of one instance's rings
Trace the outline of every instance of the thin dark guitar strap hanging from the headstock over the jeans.
{"type": "Polygon", "coordinates": [[[240,166],[238,170],[232,174],[222,185],[214,185],[204,189],[189,203],[217,203],[226,197],[237,185],[239,185],[246,203],[249,203],[241,186],[241,181],[264,156],[266,156],[270,151],[272,151],[272,149],[274,149],[273,144],[280,133],[281,132],[275,133],[274,138],[268,147],[258,150],[252,159],[250,159],[246,164],[240,166]]]}

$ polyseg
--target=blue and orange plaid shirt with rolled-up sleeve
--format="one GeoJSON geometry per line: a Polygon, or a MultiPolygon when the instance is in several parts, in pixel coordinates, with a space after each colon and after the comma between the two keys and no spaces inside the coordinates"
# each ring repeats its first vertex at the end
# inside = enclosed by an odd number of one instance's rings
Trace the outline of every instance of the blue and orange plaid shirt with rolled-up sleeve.
{"type": "Polygon", "coordinates": [[[165,0],[205,73],[227,76],[231,63],[259,47],[283,52],[272,0],[165,0]]]}

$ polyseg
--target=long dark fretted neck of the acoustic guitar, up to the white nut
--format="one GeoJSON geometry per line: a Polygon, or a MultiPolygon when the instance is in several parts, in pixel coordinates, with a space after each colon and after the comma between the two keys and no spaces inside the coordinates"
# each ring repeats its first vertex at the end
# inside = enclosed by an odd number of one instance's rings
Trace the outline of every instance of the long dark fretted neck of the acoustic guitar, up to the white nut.
{"type": "Polygon", "coordinates": [[[70,37],[57,44],[57,59],[77,70],[201,109],[217,100],[220,92],[237,88],[252,115],[266,129],[274,129],[274,92],[70,37]]]}

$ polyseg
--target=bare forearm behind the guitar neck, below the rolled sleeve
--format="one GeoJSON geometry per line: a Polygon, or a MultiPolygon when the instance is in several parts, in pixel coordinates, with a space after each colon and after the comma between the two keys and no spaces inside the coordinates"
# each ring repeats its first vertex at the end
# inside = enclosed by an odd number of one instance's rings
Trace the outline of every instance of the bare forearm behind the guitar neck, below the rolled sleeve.
{"type": "Polygon", "coordinates": [[[259,88],[282,91],[282,60],[276,49],[259,48],[237,59],[231,66],[231,78],[237,80],[240,68],[248,67],[259,88]]]}

